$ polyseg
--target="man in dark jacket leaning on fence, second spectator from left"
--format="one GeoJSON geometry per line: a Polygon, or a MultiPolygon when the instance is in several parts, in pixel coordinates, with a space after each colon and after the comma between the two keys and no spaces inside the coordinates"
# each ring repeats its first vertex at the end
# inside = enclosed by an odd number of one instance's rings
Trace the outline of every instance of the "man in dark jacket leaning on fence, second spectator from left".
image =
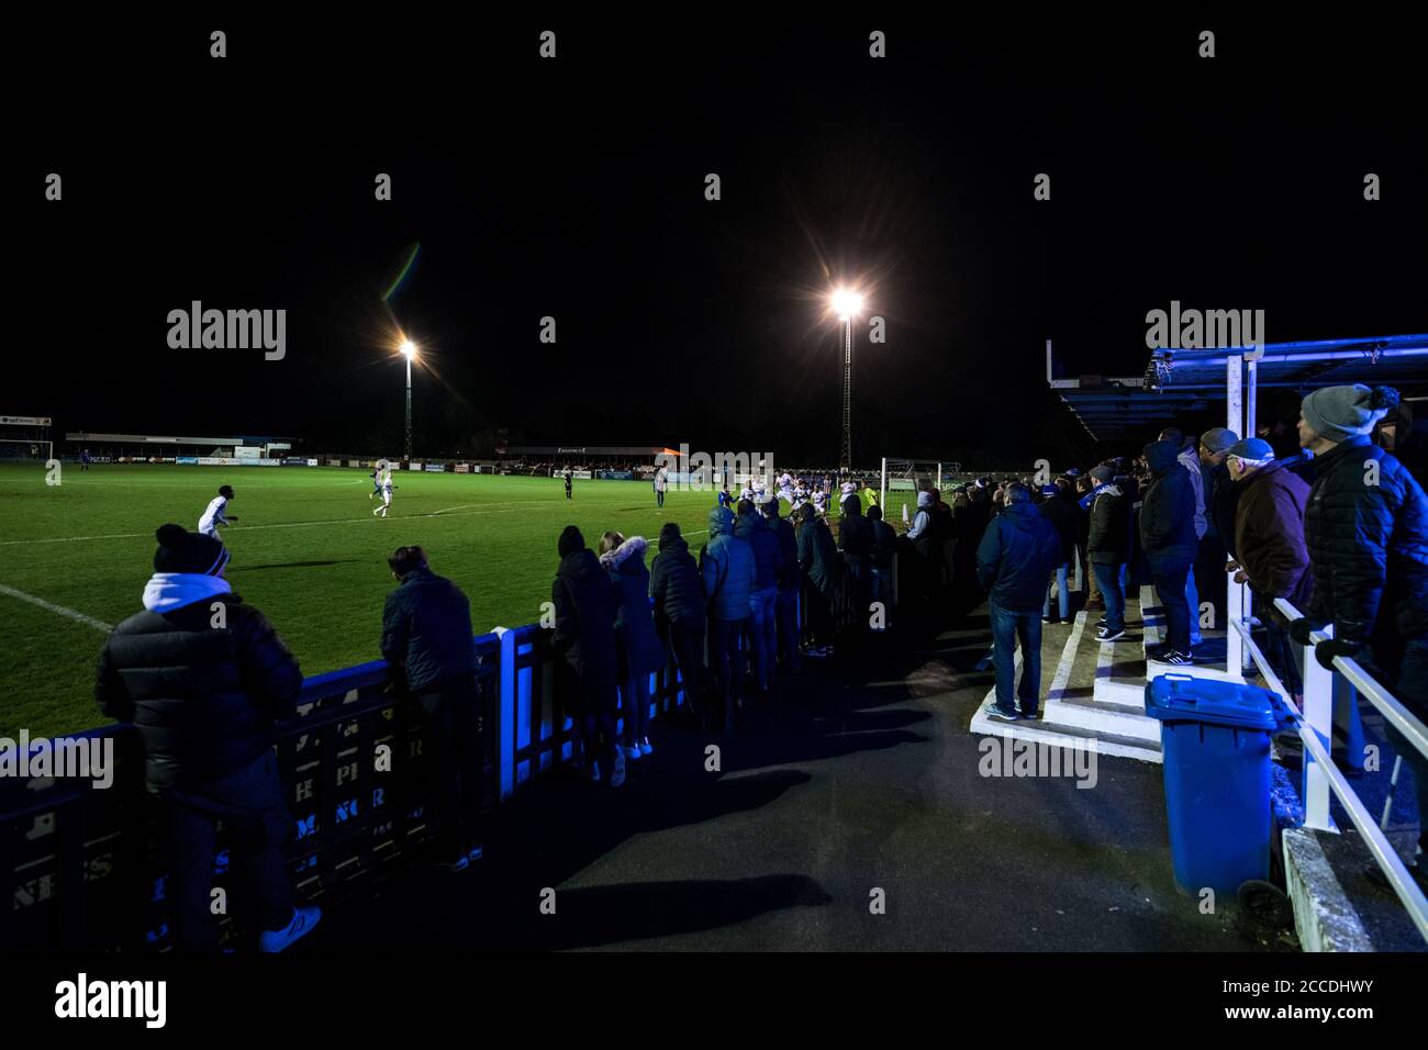
{"type": "Polygon", "coordinates": [[[416,701],[427,747],[436,863],[464,871],[481,859],[481,710],[471,606],[427,566],[421,547],[387,559],[398,586],[381,616],[381,656],[416,701]]]}

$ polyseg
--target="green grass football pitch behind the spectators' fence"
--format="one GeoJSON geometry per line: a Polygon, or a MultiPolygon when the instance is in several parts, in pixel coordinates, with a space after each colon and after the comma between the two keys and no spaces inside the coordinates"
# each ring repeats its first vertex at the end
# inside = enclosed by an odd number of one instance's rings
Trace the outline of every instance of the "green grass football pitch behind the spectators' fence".
{"type": "MultiPolygon", "coordinates": [[[[550,600],[567,524],[591,547],[614,529],[653,549],[660,526],[677,521],[697,549],[714,500],[671,491],[658,510],[644,481],[575,481],[567,501],[557,479],[398,471],[390,516],[376,519],[371,481],[356,469],[66,464],[63,484],[44,480],[39,464],[0,466],[0,584],[116,624],[141,609],[154,529],[197,527],[218,486],[231,484],[238,523],[224,533],[227,579],[308,676],[380,656],[381,609],[396,586],[387,556],[398,544],[420,543],[431,567],[466,590],[477,631],[517,627],[550,600]]],[[[0,736],[103,721],[93,700],[99,629],[0,591],[0,736]]]]}

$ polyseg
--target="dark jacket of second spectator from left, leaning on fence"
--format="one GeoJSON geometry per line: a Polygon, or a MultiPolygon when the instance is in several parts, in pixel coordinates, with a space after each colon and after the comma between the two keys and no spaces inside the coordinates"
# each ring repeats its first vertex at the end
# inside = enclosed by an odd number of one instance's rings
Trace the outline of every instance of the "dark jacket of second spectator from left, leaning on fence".
{"type": "Polygon", "coordinates": [[[406,671],[407,690],[426,693],[476,670],[471,604],[454,583],[414,569],[387,596],[381,656],[406,671]]]}

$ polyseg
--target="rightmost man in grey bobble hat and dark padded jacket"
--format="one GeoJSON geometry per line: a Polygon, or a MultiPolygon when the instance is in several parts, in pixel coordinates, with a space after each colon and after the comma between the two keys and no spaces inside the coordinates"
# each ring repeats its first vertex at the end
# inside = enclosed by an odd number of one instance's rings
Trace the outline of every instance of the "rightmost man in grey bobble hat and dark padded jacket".
{"type": "MultiPolygon", "coordinates": [[[[1304,513],[1314,596],[1289,634],[1308,644],[1312,627],[1334,624],[1332,640],[1315,647],[1319,663],[1358,660],[1428,720],[1428,499],[1412,474],[1369,440],[1397,404],[1397,390],[1362,384],[1325,387],[1302,401],[1299,443],[1315,456],[1304,513]]],[[[1414,771],[1422,849],[1428,759],[1392,724],[1387,730],[1414,771]]],[[[1422,869],[1419,863],[1419,881],[1422,869]]]]}

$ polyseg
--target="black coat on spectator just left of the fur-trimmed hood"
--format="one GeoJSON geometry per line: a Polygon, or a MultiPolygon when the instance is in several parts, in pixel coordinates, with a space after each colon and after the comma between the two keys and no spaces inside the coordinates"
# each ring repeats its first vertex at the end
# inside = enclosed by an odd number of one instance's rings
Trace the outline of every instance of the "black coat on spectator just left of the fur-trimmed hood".
{"type": "Polygon", "coordinates": [[[560,560],[551,586],[555,631],[551,650],[574,674],[567,683],[567,703],[577,716],[601,714],[617,707],[615,587],[593,550],[577,550],[560,560]]]}

